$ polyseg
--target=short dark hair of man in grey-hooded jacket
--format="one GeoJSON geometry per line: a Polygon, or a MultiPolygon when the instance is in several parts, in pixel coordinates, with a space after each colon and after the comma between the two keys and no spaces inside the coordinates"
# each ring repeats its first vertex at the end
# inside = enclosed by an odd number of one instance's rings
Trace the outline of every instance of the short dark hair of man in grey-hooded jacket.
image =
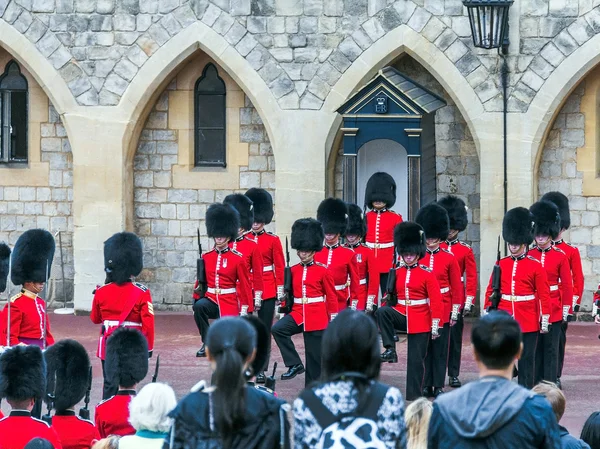
{"type": "Polygon", "coordinates": [[[497,310],[478,319],[471,343],[481,363],[490,369],[505,369],[521,349],[521,328],[508,313],[497,310]]]}

